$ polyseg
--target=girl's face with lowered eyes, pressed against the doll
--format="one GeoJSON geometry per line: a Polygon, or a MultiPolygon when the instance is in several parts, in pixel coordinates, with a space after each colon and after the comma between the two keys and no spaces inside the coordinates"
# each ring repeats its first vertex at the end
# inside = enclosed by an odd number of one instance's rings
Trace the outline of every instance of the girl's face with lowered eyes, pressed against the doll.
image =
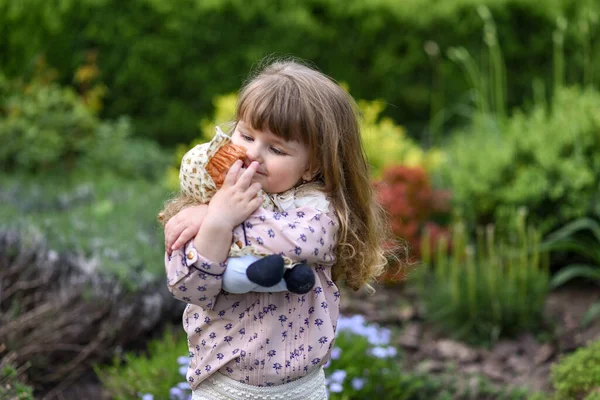
{"type": "Polygon", "coordinates": [[[267,193],[285,192],[302,180],[312,179],[308,149],[300,142],[287,142],[270,131],[252,129],[244,121],[238,121],[231,141],[246,148],[246,167],[253,161],[259,163],[253,181],[267,193]]]}

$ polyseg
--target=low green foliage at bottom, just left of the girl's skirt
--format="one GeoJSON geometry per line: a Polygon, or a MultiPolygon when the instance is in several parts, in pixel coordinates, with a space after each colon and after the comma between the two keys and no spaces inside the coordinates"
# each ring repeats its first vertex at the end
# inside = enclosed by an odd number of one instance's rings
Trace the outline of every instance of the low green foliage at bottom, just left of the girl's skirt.
{"type": "Polygon", "coordinates": [[[139,399],[145,393],[152,393],[155,399],[169,399],[170,388],[182,380],[177,358],[186,352],[184,332],[167,329],[161,339],[148,344],[147,353],[129,352],[116,357],[112,365],[96,365],[94,370],[111,399],[139,399]]]}

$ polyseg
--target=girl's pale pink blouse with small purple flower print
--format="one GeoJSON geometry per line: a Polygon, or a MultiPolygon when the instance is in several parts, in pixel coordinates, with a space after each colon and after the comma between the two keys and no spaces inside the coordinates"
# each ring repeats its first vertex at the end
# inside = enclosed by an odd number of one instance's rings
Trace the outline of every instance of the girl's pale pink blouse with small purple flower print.
{"type": "Polygon", "coordinates": [[[216,372],[250,385],[280,385],[327,362],[339,314],[340,292],[331,280],[337,233],[331,206],[325,212],[260,207],[234,230],[234,241],[314,266],[316,283],[305,295],[227,293],[225,264],[198,254],[193,241],[165,254],[169,290],[188,303],[183,326],[192,389],[216,372]]]}

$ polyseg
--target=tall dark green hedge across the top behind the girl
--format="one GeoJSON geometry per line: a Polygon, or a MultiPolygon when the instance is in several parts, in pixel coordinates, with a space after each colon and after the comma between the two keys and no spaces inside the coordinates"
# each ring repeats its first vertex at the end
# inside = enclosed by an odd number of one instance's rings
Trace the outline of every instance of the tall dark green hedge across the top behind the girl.
{"type": "Polygon", "coordinates": [[[510,105],[531,97],[534,77],[550,82],[559,15],[569,21],[570,80],[581,80],[583,54],[600,53],[600,4],[591,0],[0,0],[0,69],[27,73],[45,55],[71,83],[96,50],[109,88],[104,116],[130,115],[138,135],[174,144],[197,135],[211,100],[237,90],[257,60],[293,54],[357,98],[384,99],[386,113],[414,135],[432,112],[465,101],[468,84],[446,50],[482,54],[477,5],[496,21],[510,105]]]}

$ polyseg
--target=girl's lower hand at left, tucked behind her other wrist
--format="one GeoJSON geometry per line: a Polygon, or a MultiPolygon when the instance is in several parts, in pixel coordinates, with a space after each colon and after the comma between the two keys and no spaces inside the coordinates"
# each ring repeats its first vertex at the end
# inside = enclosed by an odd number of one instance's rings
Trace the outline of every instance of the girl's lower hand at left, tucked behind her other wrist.
{"type": "Polygon", "coordinates": [[[170,255],[196,236],[207,212],[207,204],[188,207],[178,212],[167,222],[165,225],[165,249],[167,254],[170,255]]]}

